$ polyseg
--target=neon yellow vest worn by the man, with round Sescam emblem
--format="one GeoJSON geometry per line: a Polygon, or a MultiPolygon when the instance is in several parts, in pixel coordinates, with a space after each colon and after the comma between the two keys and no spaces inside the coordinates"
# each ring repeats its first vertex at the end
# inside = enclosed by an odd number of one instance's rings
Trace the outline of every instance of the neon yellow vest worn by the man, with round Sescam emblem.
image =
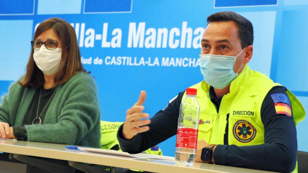
{"type": "MultiPolygon", "coordinates": [[[[197,100],[200,105],[198,139],[209,144],[224,144],[224,135],[228,120],[228,144],[250,146],[264,143],[264,127],[261,121],[261,105],[274,86],[265,74],[251,70],[246,64],[244,70],[230,85],[230,92],[223,96],[219,111],[211,102],[209,87],[205,81],[190,88],[197,89],[197,100]],[[239,133],[241,129],[242,133],[239,133]]],[[[292,105],[295,126],[305,118],[305,110],[298,99],[287,90],[292,105]]],[[[182,101],[186,97],[183,95],[182,101]]],[[[297,172],[297,164],[294,172],[297,172]]]]}

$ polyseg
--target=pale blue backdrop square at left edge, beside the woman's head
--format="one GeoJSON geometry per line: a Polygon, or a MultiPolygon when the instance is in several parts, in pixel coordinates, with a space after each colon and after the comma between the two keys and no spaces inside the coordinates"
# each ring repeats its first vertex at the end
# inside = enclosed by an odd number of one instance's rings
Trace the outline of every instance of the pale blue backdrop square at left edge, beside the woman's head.
{"type": "Polygon", "coordinates": [[[33,20],[0,20],[0,80],[17,80],[26,69],[33,20]]]}

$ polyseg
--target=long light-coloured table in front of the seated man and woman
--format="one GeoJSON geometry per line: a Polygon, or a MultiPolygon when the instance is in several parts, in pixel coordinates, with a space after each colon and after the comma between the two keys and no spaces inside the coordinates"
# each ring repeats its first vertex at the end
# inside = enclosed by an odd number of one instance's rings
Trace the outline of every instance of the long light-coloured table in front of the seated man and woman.
{"type": "Polygon", "coordinates": [[[123,156],[83,152],[65,148],[63,144],[36,143],[28,141],[0,140],[0,151],[51,159],[92,163],[159,173],[265,173],[268,171],[228,167],[215,164],[194,163],[192,167],[176,165],[174,161],[136,159],[123,156]]]}

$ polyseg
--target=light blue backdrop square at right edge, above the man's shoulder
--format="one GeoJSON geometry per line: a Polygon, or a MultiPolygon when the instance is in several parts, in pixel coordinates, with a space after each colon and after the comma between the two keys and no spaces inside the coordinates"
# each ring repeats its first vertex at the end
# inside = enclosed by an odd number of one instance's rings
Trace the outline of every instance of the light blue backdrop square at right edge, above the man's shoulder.
{"type": "Polygon", "coordinates": [[[306,57],[308,44],[308,35],[304,34],[308,30],[308,23],[303,22],[304,16],[308,16],[308,11],[283,12],[277,81],[292,91],[307,91],[308,96],[308,58],[302,58],[306,57]]]}

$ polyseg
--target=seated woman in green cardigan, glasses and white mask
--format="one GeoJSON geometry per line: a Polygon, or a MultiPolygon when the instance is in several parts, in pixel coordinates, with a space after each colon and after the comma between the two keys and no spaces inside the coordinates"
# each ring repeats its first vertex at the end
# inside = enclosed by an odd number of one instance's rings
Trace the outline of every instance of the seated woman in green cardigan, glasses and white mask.
{"type": "Polygon", "coordinates": [[[0,137],[100,147],[96,85],[73,27],[59,18],[35,30],[26,74],[0,104],[0,137]]]}

